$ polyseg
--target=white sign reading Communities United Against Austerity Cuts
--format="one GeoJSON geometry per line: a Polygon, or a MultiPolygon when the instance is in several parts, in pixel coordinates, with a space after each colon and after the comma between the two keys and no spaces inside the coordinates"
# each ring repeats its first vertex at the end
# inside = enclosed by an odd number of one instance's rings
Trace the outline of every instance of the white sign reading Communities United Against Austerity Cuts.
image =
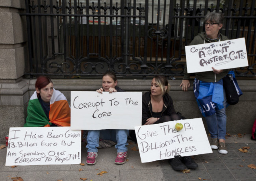
{"type": "Polygon", "coordinates": [[[245,38],[185,46],[187,72],[247,67],[245,38]]]}

